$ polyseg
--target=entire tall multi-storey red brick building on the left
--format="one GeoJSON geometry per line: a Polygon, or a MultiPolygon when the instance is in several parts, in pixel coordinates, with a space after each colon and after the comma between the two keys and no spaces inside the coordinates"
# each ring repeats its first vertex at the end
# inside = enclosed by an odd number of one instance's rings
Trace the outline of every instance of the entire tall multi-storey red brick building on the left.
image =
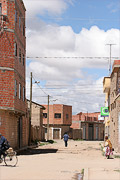
{"type": "Polygon", "coordinates": [[[0,132],[14,148],[28,144],[25,11],[22,0],[0,0],[0,132]]]}

